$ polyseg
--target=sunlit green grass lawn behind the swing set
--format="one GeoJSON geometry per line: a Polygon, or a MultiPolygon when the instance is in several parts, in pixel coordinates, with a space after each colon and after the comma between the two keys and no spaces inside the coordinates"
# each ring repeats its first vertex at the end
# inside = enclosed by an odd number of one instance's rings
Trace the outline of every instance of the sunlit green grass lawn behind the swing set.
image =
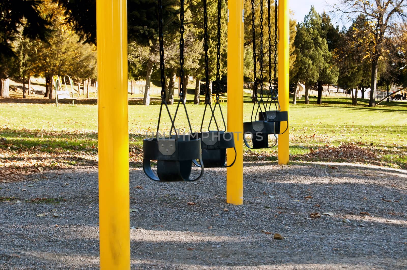
{"type": "MultiPolygon", "coordinates": [[[[134,97],[134,95],[133,95],[134,97]]],[[[316,105],[311,97],[311,104],[299,100],[297,105],[290,104],[290,154],[293,159],[317,148],[339,146],[354,142],[359,146],[386,150],[380,159],[393,167],[407,168],[407,103],[388,102],[375,108],[365,107],[367,100],[359,100],[359,105],[351,105],[350,98],[324,98],[323,105],[316,105]],[[396,147],[397,149],[394,149],[396,147]]],[[[134,153],[133,161],[140,161],[142,139],[146,132],[155,132],[160,105],[129,105],[130,146],[134,153]]],[[[130,102],[131,104],[131,102],[130,102]]],[[[221,104],[227,122],[227,103],[221,104]]],[[[176,105],[169,105],[174,113],[176,105]]],[[[244,121],[250,120],[252,104],[245,97],[244,121]]],[[[201,125],[204,105],[188,102],[188,114],[193,131],[201,125]]],[[[160,131],[170,127],[168,117],[162,120],[160,131]]],[[[217,111],[218,122],[219,111],[217,111]]],[[[234,115],[230,115],[232,119],[234,115]]],[[[207,126],[209,115],[204,126],[207,126]]],[[[35,104],[35,103],[0,103],[0,149],[21,152],[36,150],[48,153],[48,156],[61,153],[77,152],[87,156],[97,154],[97,105],[35,104]],[[7,149],[10,147],[10,149],[7,149]]],[[[219,123],[221,124],[221,123],[219,123]]],[[[188,131],[185,112],[180,108],[176,127],[188,131]]],[[[204,128],[206,130],[206,128],[204,128]]],[[[243,142],[242,142],[243,143],[243,142]]],[[[275,160],[277,147],[267,150],[250,151],[245,148],[245,157],[254,160],[275,160]]],[[[14,154],[13,154],[14,155],[14,154]]],[[[13,157],[0,157],[10,160],[13,157]]],[[[64,164],[77,161],[63,159],[64,164]]],[[[10,164],[9,164],[10,165],[10,164]]]]}

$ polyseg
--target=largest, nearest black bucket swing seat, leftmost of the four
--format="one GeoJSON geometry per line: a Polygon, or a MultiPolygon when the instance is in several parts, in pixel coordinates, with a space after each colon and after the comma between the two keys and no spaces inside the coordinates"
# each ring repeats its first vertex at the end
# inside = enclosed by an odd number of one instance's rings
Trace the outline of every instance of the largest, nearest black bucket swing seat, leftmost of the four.
{"type": "Polygon", "coordinates": [[[192,161],[202,160],[201,139],[192,139],[189,135],[143,140],[143,170],[154,181],[195,181],[190,179],[192,161]],[[157,160],[157,176],[151,170],[151,160],[157,160]]]}

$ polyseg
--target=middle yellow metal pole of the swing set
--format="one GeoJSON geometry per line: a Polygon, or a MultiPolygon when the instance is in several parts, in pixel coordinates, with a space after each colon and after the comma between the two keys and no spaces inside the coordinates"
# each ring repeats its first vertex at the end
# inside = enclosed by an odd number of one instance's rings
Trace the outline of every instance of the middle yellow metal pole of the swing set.
{"type": "Polygon", "coordinates": [[[234,205],[243,204],[243,7],[243,0],[228,1],[228,131],[234,133],[236,161],[227,169],[226,201],[234,205]]]}

